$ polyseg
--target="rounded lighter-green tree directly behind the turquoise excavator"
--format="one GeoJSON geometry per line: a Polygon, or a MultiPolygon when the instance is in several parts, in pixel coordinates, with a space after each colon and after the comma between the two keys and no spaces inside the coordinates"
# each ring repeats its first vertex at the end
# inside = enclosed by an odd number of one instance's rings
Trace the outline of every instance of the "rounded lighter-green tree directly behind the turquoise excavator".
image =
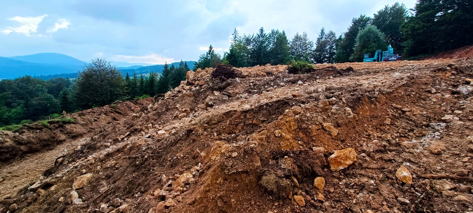
{"type": "Polygon", "coordinates": [[[377,50],[385,51],[385,35],[376,26],[367,26],[361,30],[356,38],[354,52],[350,56],[352,61],[363,61],[363,54],[375,53],[377,50]]]}

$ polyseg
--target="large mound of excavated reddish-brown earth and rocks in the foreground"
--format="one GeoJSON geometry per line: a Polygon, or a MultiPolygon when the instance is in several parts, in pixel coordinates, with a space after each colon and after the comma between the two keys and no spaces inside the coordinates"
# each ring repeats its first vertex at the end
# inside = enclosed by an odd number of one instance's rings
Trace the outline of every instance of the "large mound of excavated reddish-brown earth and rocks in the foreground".
{"type": "MultiPolygon", "coordinates": [[[[0,212],[473,212],[472,62],[189,71],[123,118],[2,164],[0,212]]],[[[41,130],[22,131],[12,143],[41,130]]]]}

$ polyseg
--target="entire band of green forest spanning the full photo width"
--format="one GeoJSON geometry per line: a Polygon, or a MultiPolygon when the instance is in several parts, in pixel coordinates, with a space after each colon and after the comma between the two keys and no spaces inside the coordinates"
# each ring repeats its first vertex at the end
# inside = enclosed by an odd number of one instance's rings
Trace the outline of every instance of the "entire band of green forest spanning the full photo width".
{"type": "MultiPolygon", "coordinates": [[[[372,17],[354,17],[347,31],[335,34],[322,28],[317,35],[284,30],[239,34],[235,29],[228,52],[218,54],[210,45],[199,57],[198,68],[220,63],[236,68],[265,64],[343,63],[363,60],[363,54],[386,51],[390,44],[403,51],[403,59],[416,59],[473,44],[473,4],[469,0],[418,0],[413,9],[394,3],[372,17]],[[315,36],[315,39],[311,39],[315,36]]],[[[94,59],[79,77],[42,80],[31,76],[0,81],[0,127],[44,119],[51,114],[74,112],[166,93],[181,81],[189,66],[166,64],[161,73],[137,75],[120,70],[104,59],[94,59]]]]}

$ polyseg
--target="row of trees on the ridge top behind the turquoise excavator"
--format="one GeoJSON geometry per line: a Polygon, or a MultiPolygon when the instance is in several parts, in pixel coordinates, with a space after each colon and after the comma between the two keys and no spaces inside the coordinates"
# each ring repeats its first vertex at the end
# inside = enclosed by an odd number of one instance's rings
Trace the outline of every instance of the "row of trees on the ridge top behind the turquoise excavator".
{"type": "Polygon", "coordinates": [[[229,51],[223,57],[213,50],[202,54],[197,68],[216,67],[219,63],[235,67],[286,64],[289,60],[310,63],[363,61],[363,54],[386,51],[390,44],[403,57],[414,59],[473,44],[473,7],[466,0],[418,0],[414,9],[395,2],[373,17],[360,15],[338,37],[322,28],[315,42],[306,32],[296,33],[289,41],[284,30],[263,27],[256,34],[239,35],[235,29],[229,51]]]}

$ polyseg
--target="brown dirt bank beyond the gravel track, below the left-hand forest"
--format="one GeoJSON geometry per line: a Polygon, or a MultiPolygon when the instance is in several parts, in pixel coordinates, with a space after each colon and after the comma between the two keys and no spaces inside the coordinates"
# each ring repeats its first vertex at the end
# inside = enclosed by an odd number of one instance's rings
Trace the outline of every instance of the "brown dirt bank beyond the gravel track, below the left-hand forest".
{"type": "Polygon", "coordinates": [[[148,105],[150,102],[152,99],[120,102],[65,115],[65,117],[77,120],[77,124],[51,122],[51,124],[44,125],[35,123],[24,126],[17,133],[0,131],[0,162],[8,162],[26,153],[35,153],[69,139],[84,136],[96,128],[125,118],[128,114],[140,110],[143,105],[148,105]]]}

